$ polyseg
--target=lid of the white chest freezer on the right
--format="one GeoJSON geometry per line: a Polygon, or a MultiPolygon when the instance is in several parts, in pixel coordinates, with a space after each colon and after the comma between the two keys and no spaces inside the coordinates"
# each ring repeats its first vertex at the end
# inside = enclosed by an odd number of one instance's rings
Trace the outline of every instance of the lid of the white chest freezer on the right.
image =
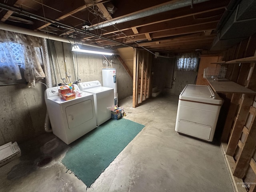
{"type": "Polygon", "coordinates": [[[222,98],[207,85],[188,84],[180,93],[179,99],[216,105],[223,103],[222,98]]]}

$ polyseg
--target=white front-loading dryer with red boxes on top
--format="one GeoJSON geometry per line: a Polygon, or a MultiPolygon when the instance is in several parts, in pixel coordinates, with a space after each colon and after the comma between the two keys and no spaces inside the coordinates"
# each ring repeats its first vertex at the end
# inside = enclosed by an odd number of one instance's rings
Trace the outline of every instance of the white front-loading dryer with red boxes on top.
{"type": "Polygon", "coordinates": [[[68,101],[60,99],[59,86],[44,92],[52,132],[66,144],[97,127],[93,94],[80,91],[76,84],[74,87],[80,96],[68,101]]]}

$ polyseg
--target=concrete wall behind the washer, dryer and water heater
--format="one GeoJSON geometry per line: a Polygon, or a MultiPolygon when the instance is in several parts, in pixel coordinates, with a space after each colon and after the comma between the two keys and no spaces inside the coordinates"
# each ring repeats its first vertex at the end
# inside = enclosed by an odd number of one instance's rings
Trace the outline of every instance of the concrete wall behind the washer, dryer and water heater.
{"type": "MultiPolygon", "coordinates": [[[[102,56],[98,54],[87,54],[80,52],[71,52],[72,45],[62,42],[54,42],[52,50],[56,50],[54,53],[53,64],[56,74],[54,77],[54,70],[52,70],[52,80],[53,86],[55,84],[62,83],[61,78],[66,78],[66,83],[69,83],[67,76],[70,77],[70,82],[78,80],[78,77],[81,79],[81,82],[94,81],[98,80],[101,84],[102,82],[102,67],[106,67],[104,60],[106,62],[111,62],[112,67],[117,70],[117,91],[118,91],[118,100],[122,100],[127,96],[132,95],[132,78],[128,75],[118,58],[116,56],[102,56]],[[64,54],[63,54],[64,50],[64,54]],[[73,59],[73,55],[74,59],[73,59]],[[65,57],[65,59],[64,59],[65,57]],[[58,60],[57,60],[58,59],[58,60]],[[66,60],[66,72],[65,72],[65,60],[66,60]],[[58,67],[58,64],[60,67],[58,67]],[[56,80],[55,80],[56,79],[56,80]],[[56,81],[56,82],[55,82],[56,81]]],[[[109,64],[110,65],[110,64],[109,64]]]]}

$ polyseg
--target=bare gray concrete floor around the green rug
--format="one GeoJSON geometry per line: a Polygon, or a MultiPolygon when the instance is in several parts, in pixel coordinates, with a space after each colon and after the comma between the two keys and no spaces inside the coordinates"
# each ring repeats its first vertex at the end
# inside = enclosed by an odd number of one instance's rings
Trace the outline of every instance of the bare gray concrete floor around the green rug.
{"type": "Polygon", "coordinates": [[[178,96],[158,96],[132,108],[119,102],[143,130],[86,189],[61,163],[69,146],[53,134],[20,143],[22,156],[0,168],[1,192],[232,192],[218,142],[175,132],[178,96]],[[37,163],[46,156],[52,161],[37,163]]]}

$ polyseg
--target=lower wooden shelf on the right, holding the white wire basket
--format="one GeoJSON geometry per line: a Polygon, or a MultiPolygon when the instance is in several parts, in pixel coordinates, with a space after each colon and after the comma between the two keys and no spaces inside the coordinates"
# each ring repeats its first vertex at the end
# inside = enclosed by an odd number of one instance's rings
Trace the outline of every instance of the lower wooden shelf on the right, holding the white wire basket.
{"type": "Polygon", "coordinates": [[[207,78],[207,81],[217,93],[256,94],[256,92],[228,79],[218,79],[218,81],[213,81],[211,78],[207,78]]]}

